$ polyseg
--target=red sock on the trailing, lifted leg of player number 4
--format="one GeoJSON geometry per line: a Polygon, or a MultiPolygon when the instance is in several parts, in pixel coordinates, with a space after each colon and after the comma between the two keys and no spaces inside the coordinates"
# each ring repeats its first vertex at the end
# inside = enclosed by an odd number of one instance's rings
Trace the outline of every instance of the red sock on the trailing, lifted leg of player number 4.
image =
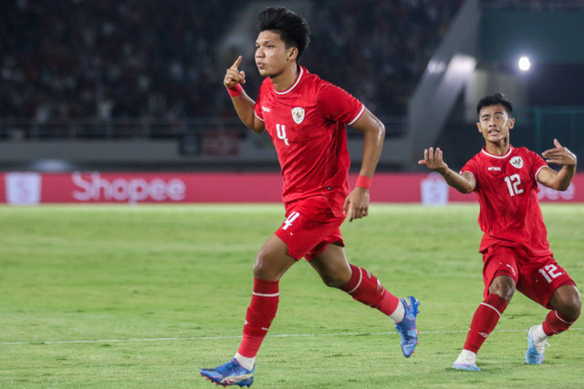
{"type": "Polygon", "coordinates": [[[353,273],[349,282],[339,288],[341,291],[348,292],[353,299],[376,308],[388,316],[395,312],[400,299],[387,292],[377,277],[355,265],[350,265],[350,269],[353,273]]]}

